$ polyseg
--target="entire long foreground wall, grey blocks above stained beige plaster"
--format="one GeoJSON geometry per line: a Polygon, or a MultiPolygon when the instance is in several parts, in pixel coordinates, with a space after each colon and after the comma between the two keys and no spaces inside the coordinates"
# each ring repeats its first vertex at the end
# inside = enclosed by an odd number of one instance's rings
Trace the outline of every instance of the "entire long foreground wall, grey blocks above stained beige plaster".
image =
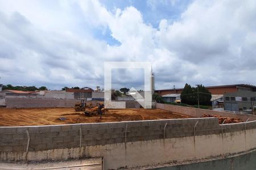
{"type": "Polygon", "coordinates": [[[218,118],[0,127],[0,161],[103,157],[106,169],[207,159],[256,148],[256,121],[218,118]]]}

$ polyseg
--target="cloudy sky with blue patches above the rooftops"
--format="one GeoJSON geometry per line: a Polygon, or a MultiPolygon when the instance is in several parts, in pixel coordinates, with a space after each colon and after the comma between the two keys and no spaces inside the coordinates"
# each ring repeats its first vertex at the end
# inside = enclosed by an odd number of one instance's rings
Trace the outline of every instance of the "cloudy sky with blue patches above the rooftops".
{"type": "MultiPolygon", "coordinates": [[[[256,85],[256,1],[0,0],[0,83],[104,88],[104,62],[150,61],[155,88],[256,85]]],[[[143,89],[143,70],[113,70],[143,89]]]]}

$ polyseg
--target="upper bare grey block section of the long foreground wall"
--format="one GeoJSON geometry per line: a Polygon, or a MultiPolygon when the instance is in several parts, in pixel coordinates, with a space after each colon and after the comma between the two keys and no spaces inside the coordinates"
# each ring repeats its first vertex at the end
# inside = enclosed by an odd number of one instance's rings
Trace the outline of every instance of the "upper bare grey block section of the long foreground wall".
{"type": "MultiPolygon", "coordinates": [[[[0,152],[75,148],[80,146],[108,145],[123,142],[151,141],[165,138],[191,137],[196,122],[196,135],[221,134],[217,118],[189,118],[176,120],[131,121],[94,124],[0,127],[0,152]],[[127,128],[126,128],[127,126],[127,128]],[[163,134],[164,126],[166,126],[163,134]],[[81,136],[80,136],[81,129],[81,136]],[[27,135],[28,131],[28,135],[27,135]],[[126,138],[125,138],[126,134],[126,138]]],[[[242,131],[244,123],[222,127],[224,133],[242,131]]],[[[246,129],[255,129],[255,122],[248,122],[246,129]]]]}

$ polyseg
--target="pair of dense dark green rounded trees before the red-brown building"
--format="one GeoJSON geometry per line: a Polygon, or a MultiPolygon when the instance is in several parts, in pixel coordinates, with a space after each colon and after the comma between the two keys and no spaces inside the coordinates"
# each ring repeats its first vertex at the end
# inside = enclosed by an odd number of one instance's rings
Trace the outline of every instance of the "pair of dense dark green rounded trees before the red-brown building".
{"type": "Polygon", "coordinates": [[[200,105],[210,105],[212,94],[202,84],[197,87],[191,87],[186,83],[180,98],[183,104],[196,105],[198,96],[200,105]]]}

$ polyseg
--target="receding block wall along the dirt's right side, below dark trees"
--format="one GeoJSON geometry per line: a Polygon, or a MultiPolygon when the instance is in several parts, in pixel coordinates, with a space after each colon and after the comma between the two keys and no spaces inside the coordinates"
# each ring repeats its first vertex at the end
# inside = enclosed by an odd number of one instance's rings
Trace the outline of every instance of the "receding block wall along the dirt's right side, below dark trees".
{"type": "Polygon", "coordinates": [[[237,113],[213,111],[213,110],[207,110],[207,109],[180,107],[176,105],[162,104],[162,103],[157,103],[156,108],[163,109],[166,111],[181,113],[181,114],[187,114],[193,117],[201,117],[203,116],[203,114],[213,114],[213,115],[218,114],[224,117],[240,118],[243,121],[246,121],[247,118],[249,118],[249,121],[256,120],[256,115],[252,115],[252,114],[237,114],[237,113]]]}

